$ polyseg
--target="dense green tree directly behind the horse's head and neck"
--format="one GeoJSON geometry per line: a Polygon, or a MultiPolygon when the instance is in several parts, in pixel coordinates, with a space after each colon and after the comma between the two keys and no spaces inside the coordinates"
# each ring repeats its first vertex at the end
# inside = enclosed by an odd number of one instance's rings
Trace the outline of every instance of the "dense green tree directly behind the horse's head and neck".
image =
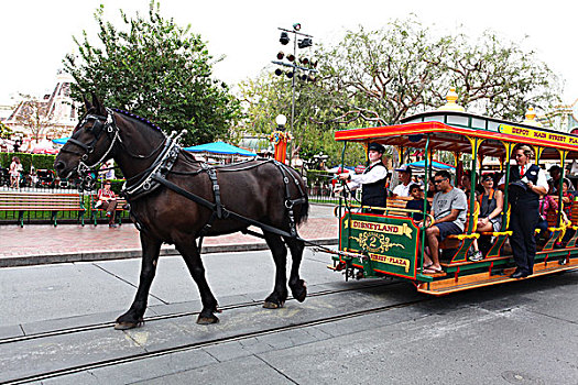
{"type": "Polygon", "coordinates": [[[200,35],[163,19],[151,0],[149,18],[129,18],[120,11],[124,29],[95,12],[98,43],[74,37],[77,52],[66,55],[65,69],[75,78],[73,98],[96,92],[110,107],[129,110],[164,131],[188,131],[184,144],[227,139],[239,116],[228,86],[212,78],[220,59],[209,55],[200,35]]]}

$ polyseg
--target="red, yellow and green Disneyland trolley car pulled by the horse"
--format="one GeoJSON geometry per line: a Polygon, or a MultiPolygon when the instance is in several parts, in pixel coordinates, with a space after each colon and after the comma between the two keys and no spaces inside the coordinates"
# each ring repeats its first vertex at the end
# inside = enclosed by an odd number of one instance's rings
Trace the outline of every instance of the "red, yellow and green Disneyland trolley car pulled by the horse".
{"type": "MultiPolygon", "coordinates": [[[[456,165],[459,165],[465,154],[470,154],[471,165],[468,166],[473,176],[481,174],[480,166],[484,158],[493,157],[500,161],[501,170],[505,174],[505,186],[510,178],[514,146],[527,144],[536,154],[535,164],[561,164],[563,175],[557,195],[559,202],[563,201],[564,165],[568,160],[578,158],[576,135],[542,129],[533,121],[514,123],[444,108],[408,117],[397,125],[338,131],[335,139],[345,143],[343,154],[350,142],[362,143],[366,147],[370,142],[393,146],[400,160],[421,148],[426,155],[425,182],[432,175],[436,151],[451,153],[456,165]]],[[[500,231],[480,234],[476,232],[479,206],[473,187],[477,180],[476,177],[471,179],[466,230],[462,234],[450,235],[449,240],[440,244],[441,273],[422,272],[424,248],[421,245],[425,244],[425,229],[410,218],[411,210],[404,209],[405,202],[392,198],[388,199],[385,208],[370,208],[381,209],[383,215],[369,213],[369,210],[364,210],[367,208],[355,201],[340,198],[337,208],[340,221],[339,251],[334,254],[334,263],[328,267],[345,273],[346,279],[388,276],[406,279],[418,292],[435,296],[516,280],[510,277],[515,264],[511,251],[504,246],[512,234],[509,230],[508,188],[504,190],[500,231]],[[473,240],[480,237],[486,237],[489,242],[483,251],[483,260],[470,262],[467,252],[473,240]]],[[[558,205],[559,211],[556,215],[548,217],[548,233],[545,234],[545,243],[536,252],[534,274],[530,277],[578,267],[578,201],[569,205],[571,224],[561,220],[563,205],[558,205]],[[560,249],[559,241],[565,233],[572,235],[560,249]]],[[[423,216],[427,215],[424,204],[423,216]]]]}

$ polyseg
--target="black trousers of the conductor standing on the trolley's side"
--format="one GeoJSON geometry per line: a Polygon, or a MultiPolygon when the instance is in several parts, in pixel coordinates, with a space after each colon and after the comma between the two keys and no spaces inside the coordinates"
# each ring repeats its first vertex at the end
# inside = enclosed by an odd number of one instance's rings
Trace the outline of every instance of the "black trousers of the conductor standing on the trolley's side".
{"type": "Polygon", "coordinates": [[[536,256],[536,239],[534,229],[538,224],[538,202],[517,202],[512,206],[510,216],[510,244],[514,254],[517,270],[525,274],[534,271],[534,257],[536,256]]]}

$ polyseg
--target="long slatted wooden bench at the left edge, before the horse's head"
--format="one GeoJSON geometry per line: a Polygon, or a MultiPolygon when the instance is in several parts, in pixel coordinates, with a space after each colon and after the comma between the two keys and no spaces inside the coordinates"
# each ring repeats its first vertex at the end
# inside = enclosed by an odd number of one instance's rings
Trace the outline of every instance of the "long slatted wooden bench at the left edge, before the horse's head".
{"type": "Polygon", "coordinates": [[[85,206],[78,193],[0,193],[0,211],[18,211],[20,227],[24,227],[24,211],[51,211],[56,227],[58,211],[77,211],[78,220],[85,226],[85,206]]]}

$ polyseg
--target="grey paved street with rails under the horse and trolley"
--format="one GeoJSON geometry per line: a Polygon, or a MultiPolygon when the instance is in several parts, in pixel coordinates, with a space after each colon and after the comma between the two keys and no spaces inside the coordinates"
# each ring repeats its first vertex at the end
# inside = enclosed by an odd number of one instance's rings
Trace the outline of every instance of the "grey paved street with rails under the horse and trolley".
{"type": "MultiPolygon", "coordinates": [[[[303,304],[293,300],[285,309],[271,311],[259,305],[272,287],[269,252],[216,253],[204,261],[220,306],[251,301],[255,306],[225,310],[217,326],[197,326],[195,316],[188,316],[150,321],[127,332],[109,324],[89,334],[31,340],[18,349],[0,344],[0,373],[74,366],[134,349],[151,352],[393,305],[359,317],[210,343],[42,383],[577,383],[577,272],[436,299],[407,284],[346,283],[326,270],[327,255],[307,251],[302,274],[310,294],[353,290],[313,295],[303,304]]],[[[139,268],[138,260],[122,260],[0,270],[0,342],[111,322],[132,301],[139,268]]],[[[196,285],[179,257],[161,258],[149,305],[148,317],[200,309],[196,285]]]]}

